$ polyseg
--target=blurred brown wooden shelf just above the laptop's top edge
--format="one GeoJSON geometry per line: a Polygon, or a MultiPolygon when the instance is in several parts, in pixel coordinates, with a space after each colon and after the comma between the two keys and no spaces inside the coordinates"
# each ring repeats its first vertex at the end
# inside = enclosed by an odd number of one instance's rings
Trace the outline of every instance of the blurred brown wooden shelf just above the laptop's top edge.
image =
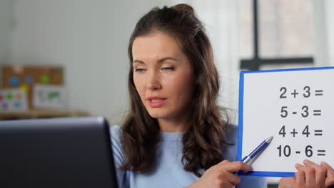
{"type": "Polygon", "coordinates": [[[34,109],[18,112],[0,112],[0,120],[19,120],[48,117],[76,117],[88,115],[90,114],[82,110],[34,109]]]}

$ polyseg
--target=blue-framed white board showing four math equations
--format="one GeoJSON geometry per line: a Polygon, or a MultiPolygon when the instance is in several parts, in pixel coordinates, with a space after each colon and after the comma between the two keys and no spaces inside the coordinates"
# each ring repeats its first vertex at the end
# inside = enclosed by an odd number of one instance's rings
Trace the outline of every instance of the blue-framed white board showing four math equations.
{"type": "Polygon", "coordinates": [[[334,166],[334,67],[240,73],[238,160],[270,136],[249,175],[294,176],[305,159],[334,166]]]}

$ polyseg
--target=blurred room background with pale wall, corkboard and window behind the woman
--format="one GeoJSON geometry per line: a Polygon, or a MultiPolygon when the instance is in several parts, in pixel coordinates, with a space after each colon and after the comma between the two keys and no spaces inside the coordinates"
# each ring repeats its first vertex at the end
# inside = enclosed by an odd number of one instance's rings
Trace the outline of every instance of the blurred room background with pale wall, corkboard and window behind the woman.
{"type": "Polygon", "coordinates": [[[179,3],[206,27],[219,104],[233,123],[240,71],[334,66],[330,0],[0,0],[0,117],[103,115],[120,124],[131,32],[154,6],[179,3]],[[9,108],[13,96],[20,103],[9,108]]]}

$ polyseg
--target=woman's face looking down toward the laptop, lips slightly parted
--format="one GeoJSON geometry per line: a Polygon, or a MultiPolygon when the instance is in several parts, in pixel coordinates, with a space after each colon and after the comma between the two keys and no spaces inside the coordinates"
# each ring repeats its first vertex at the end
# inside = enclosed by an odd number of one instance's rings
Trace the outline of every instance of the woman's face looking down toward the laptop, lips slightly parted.
{"type": "Polygon", "coordinates": [[[176,39],[152,33],[133,41],[133,82],[151,117],[188,118],[194,93],[193,68],[176,39]]]}

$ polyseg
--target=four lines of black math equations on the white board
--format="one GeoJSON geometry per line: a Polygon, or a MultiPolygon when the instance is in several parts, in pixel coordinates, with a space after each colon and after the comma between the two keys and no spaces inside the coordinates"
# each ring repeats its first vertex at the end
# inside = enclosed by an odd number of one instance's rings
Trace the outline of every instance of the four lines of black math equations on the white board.
{"type": "MultiPolygon", "coordinates": [[[[325,92],[321,88],[311,88],[305,85],[303,89],[279,88],[279,99],[290,100],[294,98],[322,98],[325,92]]],[[[280,118],[286,120],[291,116],[299,116],[301,118],[320,117],[322,115],[322,109],[316,107],[310,107],[307,104],[300,105],[300,108],[290,108],[288,105],[280,106],[280,118]]],[[[277,131],[279,137],[322,137],[324,132],[322,129],[313,128],[312,125],[304,125],[303,127],[290,127],[282,125],[277,131]]],[[[290,157],[291,155],[304,155],[305,157],[312,157],[313,155],[325,156],[325,150],[322,148],[313,148],[312,145],[306,145],[303,150],[292,150],[290,145],[279,145],[276,147],[278,150],[278,157],[290,157]]]]}

